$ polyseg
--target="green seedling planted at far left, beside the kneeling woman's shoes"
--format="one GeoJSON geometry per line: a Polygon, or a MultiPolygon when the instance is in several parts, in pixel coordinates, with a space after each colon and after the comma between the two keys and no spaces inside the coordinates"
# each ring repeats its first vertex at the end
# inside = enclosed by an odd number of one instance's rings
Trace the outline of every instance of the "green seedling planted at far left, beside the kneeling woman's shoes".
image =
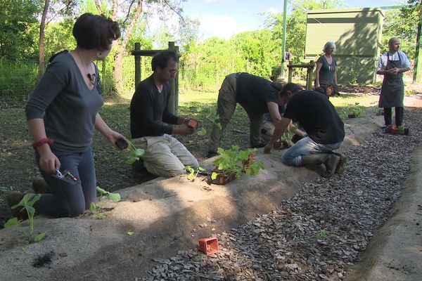
{"type": "MultiPolygon", "coordinates": [[[[26,211],[27,212],[27,216],[28,216],[28,221],[30,222],[30,226],[28,227],[27,230],[20,230],[25,237],[27,238],[26,242],[27,244],[31,244],[33,242],[39,242],[41,241],[45,236],[46,233],[39,233],[38,235],[35,235],[35,237],[33,237],[34,234],[34,214],[35,214],[35,208],[34,203],[37,202],[39,200],[39,198],[41,198],[41,194],[37,194],[37,195],[33,195],[31,198],[32,194],[27,193],[23,196],[22,200],[20,200],[20,202],[18,204],[15,204],[12,209],[16,209],[16,208],[20,208],[20,211],[26,211]]],[[[13,228],[14,226],[18,225],[18,223],[20,223],[20,221],[18,220],[18,218],[10,218],[5,224],[4,227],[5,228],[13,228]]]]}

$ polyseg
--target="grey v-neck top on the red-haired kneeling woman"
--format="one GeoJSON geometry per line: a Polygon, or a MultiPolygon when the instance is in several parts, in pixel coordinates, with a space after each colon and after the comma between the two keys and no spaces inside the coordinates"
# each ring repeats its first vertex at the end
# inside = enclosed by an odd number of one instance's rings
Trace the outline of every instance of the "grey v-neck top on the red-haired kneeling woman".
{"type": "Polygon", "coordinates": [[[84,152],[91,146],[96,114],[102,105],[98,79],[90,90],[72,55],[64,52],[47,67],[25,113],[27,120],[44,118],[46,135],[54,140],[54,149],[84,152]]]}

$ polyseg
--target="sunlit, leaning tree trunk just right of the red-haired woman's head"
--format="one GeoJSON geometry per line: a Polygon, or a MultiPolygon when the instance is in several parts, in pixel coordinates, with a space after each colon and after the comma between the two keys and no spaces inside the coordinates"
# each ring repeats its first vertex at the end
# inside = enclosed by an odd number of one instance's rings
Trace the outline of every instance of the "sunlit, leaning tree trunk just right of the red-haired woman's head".
{"type": "Polygon", "coordinates": [[[115,80],[116,88],[117,88],[117,92],[119,93],[122,93],[122,90],[123,90],[123,81],[122,81],[123,54],[124,54],[124,51],[126,50],[127,42],[129,41],[129,38],[132,35],[134,26],[136,22],[138,21],[138,18],[139,18],[139,15],[141,15],[141,12],[142,12],[142,0],[138,0],[138,6],[136,7],[135,15],[132,18],[132,21],[130,22],[129,27],[127,27],[127,31],[124,33],[122,44],[120,45],[119,51],[115,57],[113,77],[116,79],[115,80]]]}

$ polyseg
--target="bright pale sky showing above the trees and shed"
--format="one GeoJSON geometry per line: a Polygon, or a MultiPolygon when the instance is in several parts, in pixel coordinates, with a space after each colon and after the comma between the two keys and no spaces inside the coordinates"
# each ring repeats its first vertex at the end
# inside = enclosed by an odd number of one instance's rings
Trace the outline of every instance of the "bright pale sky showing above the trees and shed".
{"type": "MultiPolygon", "coordinates": [[[[260,12],[283,11],[283,0],[187,0],[184,15],[200,21],[200,39],[228,39],[239,32],[263,28],[260,12]]],[[[288,1],[291,7],[295,0],[288,1]]],[[[345,8],[396,6],[405,0],[343,0],[345,8]]]]}

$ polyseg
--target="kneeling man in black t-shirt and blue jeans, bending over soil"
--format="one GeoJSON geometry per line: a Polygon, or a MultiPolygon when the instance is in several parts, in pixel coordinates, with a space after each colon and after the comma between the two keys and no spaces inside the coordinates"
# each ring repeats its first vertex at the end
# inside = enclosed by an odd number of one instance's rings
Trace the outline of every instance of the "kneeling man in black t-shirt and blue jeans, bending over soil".
{"type": "Polygon", "coordinates": [[[270,152],[291,120],[296,119],[308,136],[284,152],[283,163],[288,166],[324,166],[325,169],[319,171],[324,177],[342,173],[346,158],[333,150],[342,145],[345,129],[328,98],[315,91],[300,91],[300,86],[293,83],[286,84],[280,95],[287,103],[286,112],[276,124],[264,152],[270,152]]]}

